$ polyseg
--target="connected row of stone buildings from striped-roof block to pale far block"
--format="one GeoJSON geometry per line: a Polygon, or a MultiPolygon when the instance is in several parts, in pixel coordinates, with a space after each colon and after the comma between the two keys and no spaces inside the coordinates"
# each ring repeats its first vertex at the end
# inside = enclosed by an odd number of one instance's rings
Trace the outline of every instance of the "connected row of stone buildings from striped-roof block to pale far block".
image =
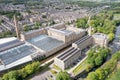
{"type": "Polygon", "coordinates": [[[81,51],[88,46],[99,45],[106,47],[108,44],[108,37],[102,33],[95,33],[94,35],[87,35],[76,42],[72,43],[72,47],[61,53],[54,59],[54,64],[62,70],[65,70],[72,65],[80,56],[81,51]]]}

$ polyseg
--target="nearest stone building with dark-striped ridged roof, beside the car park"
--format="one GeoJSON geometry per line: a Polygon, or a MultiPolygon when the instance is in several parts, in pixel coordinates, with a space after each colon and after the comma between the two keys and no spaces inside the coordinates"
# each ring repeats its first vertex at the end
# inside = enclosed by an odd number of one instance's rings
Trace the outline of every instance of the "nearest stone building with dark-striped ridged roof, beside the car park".
{"type": "Polygon", "coordinates": [[[54,59],[54,64],[59,66],[62,70],[65,70],[71,66],[71,64],[74,63],[74,61],[78,59],[79,56],[81,56],[81,50],[79,48],[71,47],[57,56],[54,59]]]}

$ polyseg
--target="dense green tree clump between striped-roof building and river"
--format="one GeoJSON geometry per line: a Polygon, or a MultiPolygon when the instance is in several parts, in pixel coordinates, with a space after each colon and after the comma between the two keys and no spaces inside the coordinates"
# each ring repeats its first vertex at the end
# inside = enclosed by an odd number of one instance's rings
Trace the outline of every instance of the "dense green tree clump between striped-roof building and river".
{"type": "Polygon", "coordinates": [[[109,49],[104,49],[99,46],[91,49],[87,54],[86,71],[89,72],[92,68],[100,66],[105,61],[108,53],[109,49]]]}

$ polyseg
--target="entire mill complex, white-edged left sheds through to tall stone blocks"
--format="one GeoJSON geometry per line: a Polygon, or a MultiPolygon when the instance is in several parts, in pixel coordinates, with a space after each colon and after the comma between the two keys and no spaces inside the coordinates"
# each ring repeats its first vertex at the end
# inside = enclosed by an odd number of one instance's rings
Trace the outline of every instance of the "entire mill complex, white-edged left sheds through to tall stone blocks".
{"type": "Polygon", "coordinates": [[[86,30],[63,23],[20,35],[20,40],[0,39],[0,71],[39,57],[48,57],[86,35],[86,30]],[[4,42],[6,41],[6,42],[4,42]]]}

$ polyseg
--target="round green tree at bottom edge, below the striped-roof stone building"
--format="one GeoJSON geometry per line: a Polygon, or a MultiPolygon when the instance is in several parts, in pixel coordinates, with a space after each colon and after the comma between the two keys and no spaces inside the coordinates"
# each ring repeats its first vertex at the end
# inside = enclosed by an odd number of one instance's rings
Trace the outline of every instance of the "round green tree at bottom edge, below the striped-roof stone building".
{"type": "Polygon", "coordinates": [[[67,72],[59,72],[56,76],[56,80],[72,80],[67,72]]]}

